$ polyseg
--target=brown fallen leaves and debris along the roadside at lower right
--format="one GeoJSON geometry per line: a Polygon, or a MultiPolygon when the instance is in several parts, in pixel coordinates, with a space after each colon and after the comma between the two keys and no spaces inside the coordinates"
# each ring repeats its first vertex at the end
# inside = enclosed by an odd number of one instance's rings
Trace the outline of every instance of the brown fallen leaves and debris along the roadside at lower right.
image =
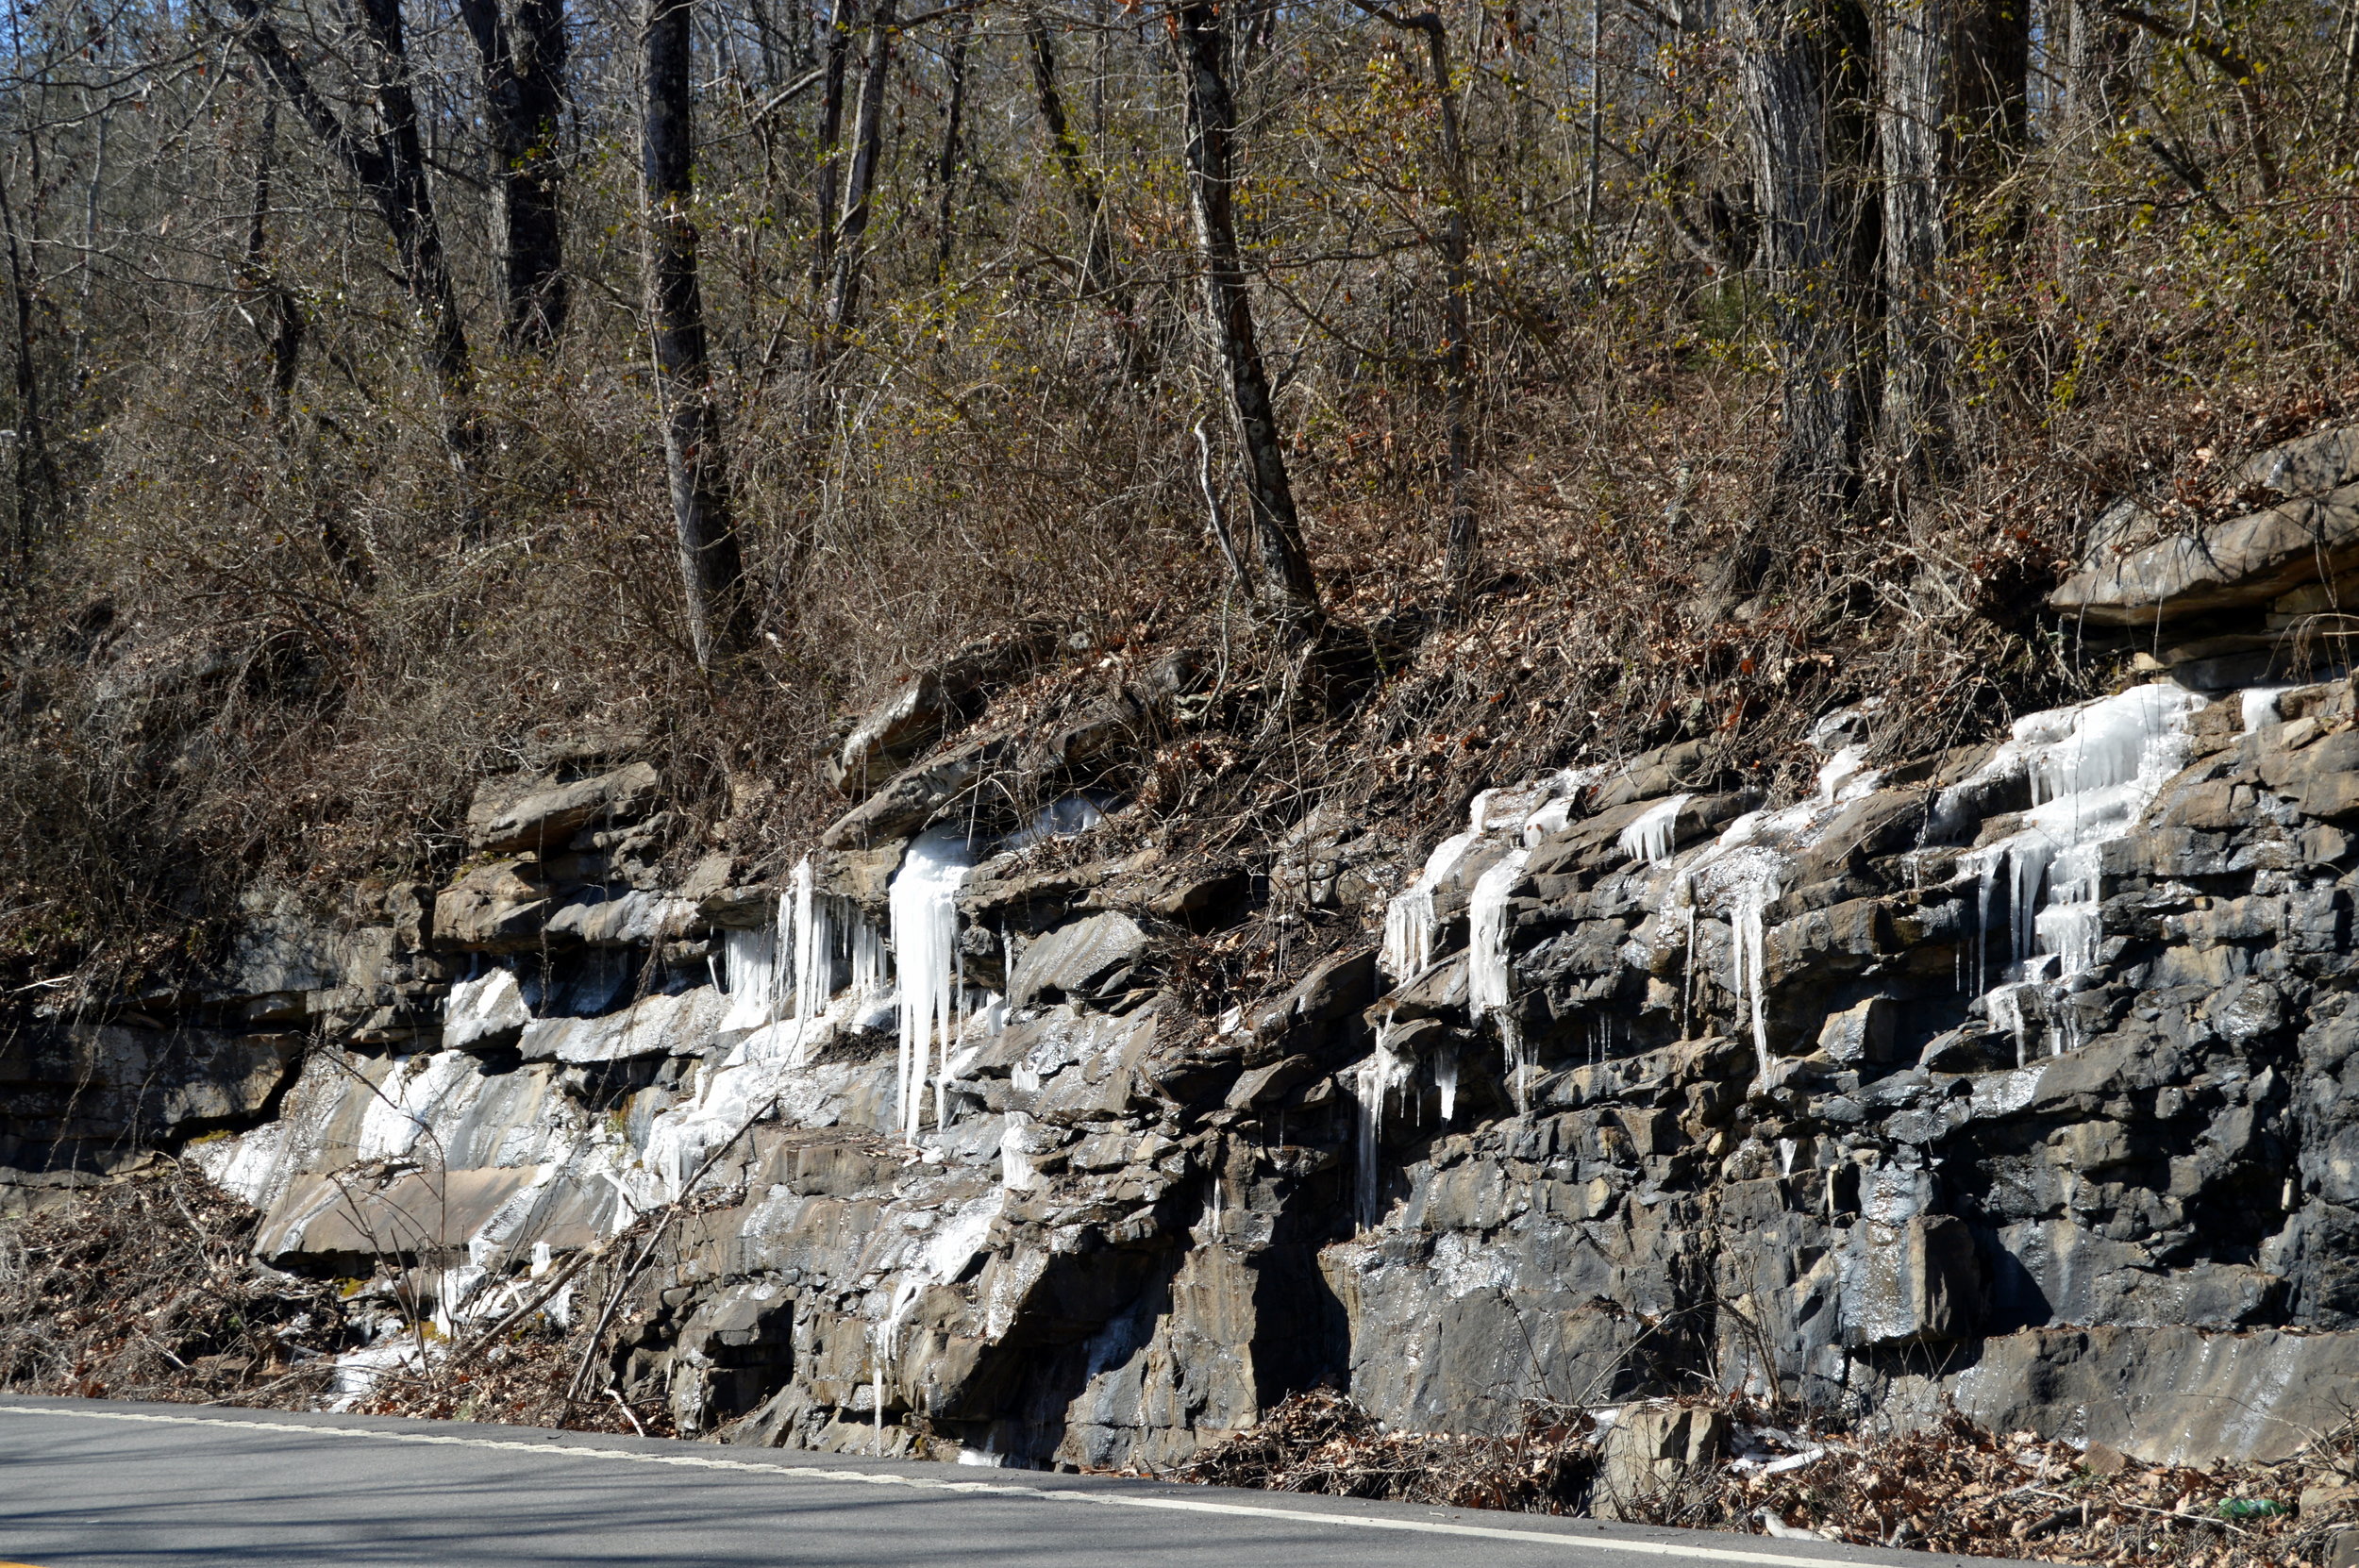
{"type": "Polygon", "coordinates": [[[1531,1408],[1522,1436],[1481,1438],[1385,1431],[1316,1389],[1203,1450],[1180,1478],[2109,1568],[2359,1563],[2359,1422],[2284,1464],[2189,1469],[2104,1443],[1993,1434],[1960,1415],[1866,1434],[1779,1424],[1746,1405],[1651,1405],[1724,1412],[1722,1450],[1658,1485],[1616,1490],[1611,1434],[1649,1405],[1531,1408]]]}

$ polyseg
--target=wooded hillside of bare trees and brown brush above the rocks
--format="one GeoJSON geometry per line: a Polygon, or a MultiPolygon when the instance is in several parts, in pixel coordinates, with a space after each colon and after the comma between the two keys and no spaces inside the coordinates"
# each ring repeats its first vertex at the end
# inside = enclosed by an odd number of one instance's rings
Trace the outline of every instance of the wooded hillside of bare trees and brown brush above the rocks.
{"type": "Polygon", "coordinates": [[[1014,620],[1217,660],[1172,813],[1986,729],[2125,658],[2036,613],[2104,500],[2350,410],[2354,66],[2350,0],[12,5],[9,974],[448,861],[535,733],[786,854],[1014,620]]]}

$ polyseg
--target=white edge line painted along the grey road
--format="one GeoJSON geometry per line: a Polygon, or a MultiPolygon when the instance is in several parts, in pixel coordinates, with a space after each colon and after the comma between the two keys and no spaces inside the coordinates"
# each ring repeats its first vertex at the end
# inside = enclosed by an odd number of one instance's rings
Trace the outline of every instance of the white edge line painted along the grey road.
{"type": "MultiPolygon", "coordinates": [[[[552,1448],[547,1443],[512,1443],[507,1438],[460,1438],[434,1431],[377,1431],[370,1427],[302,1427],[295,1422],[236,1422],[210,1415],[146,1415],[139,1410],[54,1410],[40,1405],[0,1405],[0,1415],[64,1415],[85,1422],[149,1422],[156,1427],[226,1427],[231,1431],[293,1431],[307,1438],[363,1438],[375,1443],[436,1443],[448,1448],[495,1448],[521,1455],[564,1455],[569,1460],[620,1460],[625,1464],[677,1464],[686,1469],[734,1469],[750,1476],[795,1476],[800,1481],[856,1481],[861,1485],[906,1485],[920,1493],[991,1493],[1043,1502],[1087,1502],[1111,1509],[1168,1509],[1175,1514],[1236,1514],[1243,1518],[1290,1518],[1314,1526],[1349,1526],[1354,1530],[1408,1530],[1413,1535],[1474,1535],[1512,1540],[1524,1547],[1571,1547],[1578,1551],[1625,1551],[1632,1556],[1675,1556],[1703,1563],[1748,1563],[1753,1568],[1861,1568],[1859,1561],[1833,1556],[1786,1556],[1779,1551],[1741,1551],[1736,1547],[1668,1544],[1651,1540],[1614,1540],[1588,1535],[1552,1535],[1540,1530],[1493,1530],[1439,1518],[1364,1518],[1356,1514],[1309,1514],[1302,1509],[1264,1509],[1248,1502],[1194,1502],[1189,1497],[1146,1497],[1139,1493],[1095,1493],[1080,1488],[1017,1485],[1010,1481],[929,1481],[922,1476],[887,1476],[859,1469],[823,1469],[819,1464],[748,1464],[745,1460],[708,1460],[703,1455],[651,1455],[625,1448],[552,1448]]],[[[1925,1559],[1937,1568],[1934,1559],[1925,1559]]]]}

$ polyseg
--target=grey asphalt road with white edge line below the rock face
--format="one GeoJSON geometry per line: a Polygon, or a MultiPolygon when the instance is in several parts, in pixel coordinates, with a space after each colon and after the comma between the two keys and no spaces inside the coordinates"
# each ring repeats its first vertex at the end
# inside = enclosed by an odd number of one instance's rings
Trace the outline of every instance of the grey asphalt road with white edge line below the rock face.
{"type": "MultiPolygon", "coordinates": [[[[33,1398],[0,1401],[0,1559],[38,1568],[1965,1563],[1585,1518],[531,1427],[33,1398]]],[[[1996,1566],[1974,1559],[1972,1568],[1996,1566]]]]}

